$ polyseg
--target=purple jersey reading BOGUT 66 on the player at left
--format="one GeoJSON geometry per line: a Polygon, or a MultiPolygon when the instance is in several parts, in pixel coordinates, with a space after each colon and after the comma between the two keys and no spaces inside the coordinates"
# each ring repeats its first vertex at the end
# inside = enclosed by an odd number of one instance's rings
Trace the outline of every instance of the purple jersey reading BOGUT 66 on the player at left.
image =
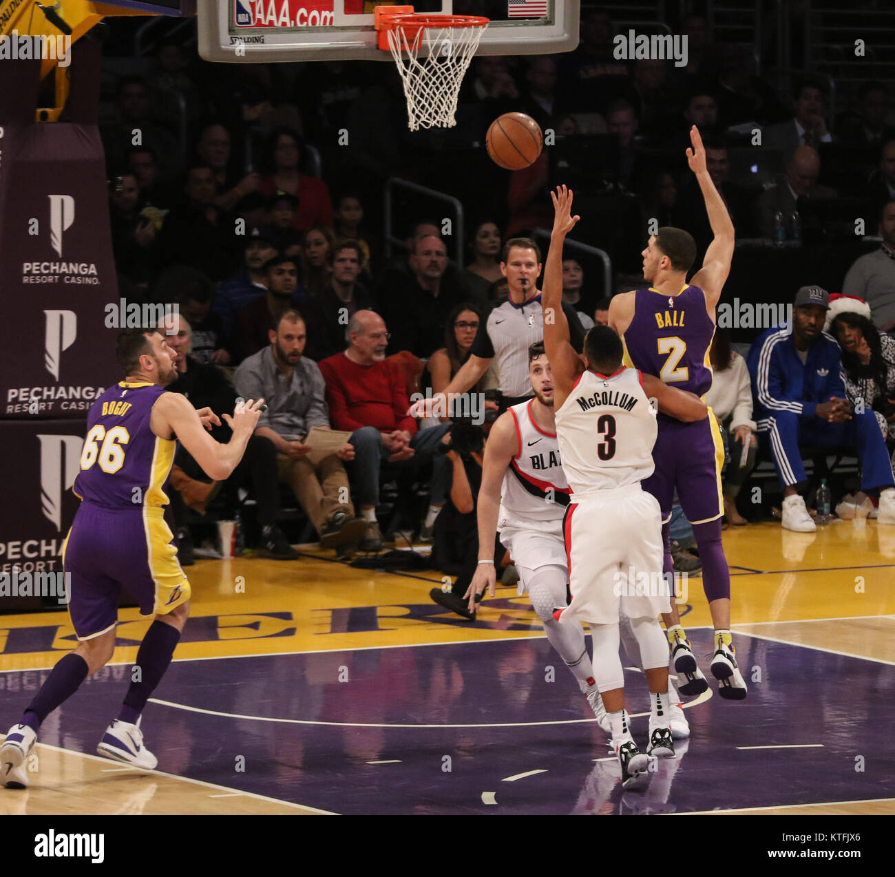
{"type": "Polygon", "coordinates": [[[158,384],[122,381],[90,406],[74,480],[81,499],[115,509],[166,506],[177,442],[159,438],[149,426],[152,406],[164,392],[158,384]]]}

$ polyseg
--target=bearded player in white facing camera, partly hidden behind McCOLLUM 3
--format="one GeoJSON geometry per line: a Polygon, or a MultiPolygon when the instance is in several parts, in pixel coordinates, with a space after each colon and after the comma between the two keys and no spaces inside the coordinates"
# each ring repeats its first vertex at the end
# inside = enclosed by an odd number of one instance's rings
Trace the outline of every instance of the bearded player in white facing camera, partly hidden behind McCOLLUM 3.
{"type": "MultiPolygon", "coordinates": [[[[571,491],[559,456],[553,376],[543,342],[532,345],[528,356],[534,398],[501,414],[488,434],[476,501],[479,562],[465,599],[474,613],[486,588],[491,597],[495,595],[493,551],[494,536],[499,531],[500,541],[509,549],[519,571],[520,596],[528,592],[550,645],[572,671],[600,727],[609,734],[609,719],[593,677],[584,628],[560,625],[553,617],[554,609],[567,602],[568,561],[562,521],[571,491]]],[[[639,665],[640,649],[629,625],[622,626],[621,635],[628,657],[639,665]]],[[[670,681],[669,702],[673,737],[689,737],[690,727],[670,681]]]]}

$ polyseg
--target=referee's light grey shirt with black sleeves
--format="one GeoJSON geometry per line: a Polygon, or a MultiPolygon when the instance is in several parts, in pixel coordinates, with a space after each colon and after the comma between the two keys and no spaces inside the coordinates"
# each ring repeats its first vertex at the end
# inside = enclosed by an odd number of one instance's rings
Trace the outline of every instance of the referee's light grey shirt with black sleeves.
{"type": "MultiPolygon", "coordinates": [[[[566,302],[562,303],[562,310],[568,320],[572,346],[581,353],[585,333],[577,311],[566,302]]],[[[479,324],[470,353],[482,359],[497,360],[499,389],[503,396],[532,396],[532,383],[528,379],[528,348],[543,339],[541,294],[524,304],[514,304],[507,296],[494,302],[488,319],[479,324]]]]}

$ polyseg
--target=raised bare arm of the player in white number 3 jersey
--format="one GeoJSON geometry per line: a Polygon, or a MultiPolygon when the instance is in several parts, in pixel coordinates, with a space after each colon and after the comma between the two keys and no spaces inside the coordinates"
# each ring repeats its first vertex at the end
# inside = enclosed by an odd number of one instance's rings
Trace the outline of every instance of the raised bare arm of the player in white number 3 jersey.
{"type": "Polygon", "coordinates": [[[556,381],[556,404],[561,405],[578,375],[584,371],[584,363],[571,344],[568,319],[562,309],[563,244],[581,217],[572,216],[572,192],[566,186],[557,186],[556,192],[550,192],[550,198],[554,210],[553,233],[544,265],[541,308],[544,312],[544,350],[556,381]]]}

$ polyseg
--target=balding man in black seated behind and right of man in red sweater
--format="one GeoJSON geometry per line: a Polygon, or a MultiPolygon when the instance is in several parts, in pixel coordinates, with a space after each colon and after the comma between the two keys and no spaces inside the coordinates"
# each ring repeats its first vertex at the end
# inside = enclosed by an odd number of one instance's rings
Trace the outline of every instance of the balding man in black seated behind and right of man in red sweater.
{"type": "Polygon", "coordinates": [[[464,299],[456,274],[447,275],[447,247],[439,237],[420,238],[410,257],[413,277],[380,299],[392,327],[392,349],[425,358],[441,346],[450,311],[464,299]]]}

